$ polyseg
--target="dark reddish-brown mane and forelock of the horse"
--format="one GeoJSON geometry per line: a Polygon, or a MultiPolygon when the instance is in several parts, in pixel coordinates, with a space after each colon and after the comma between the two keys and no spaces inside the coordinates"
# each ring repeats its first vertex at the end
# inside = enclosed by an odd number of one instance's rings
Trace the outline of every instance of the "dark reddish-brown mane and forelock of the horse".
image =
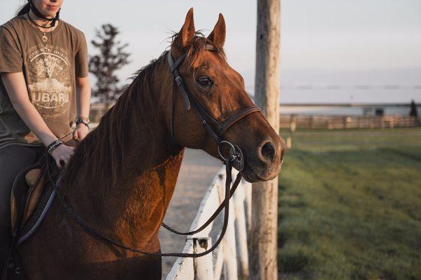
{"type": "MultiPolygon", "coordinates": [[[[170,37],[171,46],[177,36],[178,33],[175,33],[170,37]]],[[[186,61],[193,70],[206,62],[208,52],[204,50],[209,44],[214,46],[215,53],[225,59],[222,48],[215,46],[200,31],[196,32],[192,45],[185,50],[186,61]]],[[[71,184],[76,176],[81,180],[79,182],[95,182],[100,187],[116,184],[123,174],[123,159],[128,156],[129,147],[133,145],[128,132],[138,131],[146,125],[148,131],[144,131],[144,135],[150,133],[152,139],[154,138],[154,130],[150,124],[154,124],[156,119],[156,115],[151,113],[156,108],[156,96],[152,92],[152,86],[156,69],[166,63],[167,53],[168,51],[164,51],[159,58],[135,72],[131,77],[131,84],[124,86],[116,104],[79,143],[65,170],[62,180],[64,187],[71,184]],[[81,166],[84,167],[80,168],[81,166]]]]}

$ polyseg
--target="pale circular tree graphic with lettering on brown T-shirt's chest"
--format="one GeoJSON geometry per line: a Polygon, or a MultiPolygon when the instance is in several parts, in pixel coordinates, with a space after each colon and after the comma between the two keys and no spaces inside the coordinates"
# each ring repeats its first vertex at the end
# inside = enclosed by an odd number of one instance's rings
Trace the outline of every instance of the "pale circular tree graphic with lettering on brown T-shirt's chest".
{"type": "Polygon", "coordinates": [[[29,51],[27,84],[32,104],[41,115],[68,113],[72,93],[70,62],[58,46],[40,44],[29,51]]]}

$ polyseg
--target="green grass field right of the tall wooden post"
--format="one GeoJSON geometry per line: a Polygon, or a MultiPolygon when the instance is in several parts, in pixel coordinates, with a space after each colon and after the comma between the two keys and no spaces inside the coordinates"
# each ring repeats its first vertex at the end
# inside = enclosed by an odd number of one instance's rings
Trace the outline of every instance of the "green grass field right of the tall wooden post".
{"type": "Polygon", "coordinates": [[[421,129],[281,135],[279,278],[421,279],[421,129]]]}

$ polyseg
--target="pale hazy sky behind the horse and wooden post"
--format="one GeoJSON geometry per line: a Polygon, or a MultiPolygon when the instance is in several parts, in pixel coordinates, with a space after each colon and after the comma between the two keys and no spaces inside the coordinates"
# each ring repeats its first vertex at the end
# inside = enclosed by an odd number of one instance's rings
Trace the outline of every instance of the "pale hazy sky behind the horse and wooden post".
{"type": "MultiPolygon", "coordinates": [[[[25,2],[0,1],[0,24],[25,2]]],[[[104,23],[118,27],[132,54],[118,74],[127,82],[166,49],[190,7],[205,34],[224,15],[227,59],[253,94],[257,1],[64,0],[60,17],[88,41],[104,23]]],[[[280,67],[282,103],[421,102],[421,1],[281,0],[280,67]]]]}

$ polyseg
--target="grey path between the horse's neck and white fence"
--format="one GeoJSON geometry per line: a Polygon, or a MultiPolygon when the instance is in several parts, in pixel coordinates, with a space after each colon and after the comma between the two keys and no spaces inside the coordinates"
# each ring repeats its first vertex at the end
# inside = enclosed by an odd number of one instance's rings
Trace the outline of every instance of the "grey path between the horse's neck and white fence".
{"type": "MultiPolygon", "coordinates": [[[[183,232],[189,229],[203,195],[221,167],[221,161],[201,150],[185,150],[173,199],[164,219],[167,225],[183,232]]],[[[185,244],[185,236],[172,234],[163,228],[159,239],[162,252],[181,252],[185,244]]],[[[175,260],[176,258],[162,258],[163,279],[175,260]]]]}

